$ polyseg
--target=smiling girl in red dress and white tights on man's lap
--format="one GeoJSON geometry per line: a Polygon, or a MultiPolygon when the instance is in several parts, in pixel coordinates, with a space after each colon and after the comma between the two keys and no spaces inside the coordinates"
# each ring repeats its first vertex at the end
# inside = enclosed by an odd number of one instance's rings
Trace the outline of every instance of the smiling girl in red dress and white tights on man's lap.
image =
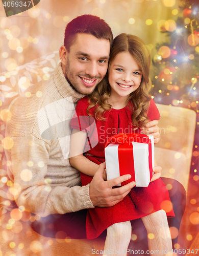
{"type": "MultiPolygon", "coordinates": [[[[109,137],[122,132],[140,133],[148,121],[159,119],[158,109],[149,94],[150,66],[150,53],[140,38],[124,33],[115,37],[108,74],[90,96],[78,102],[70,122],[73,129],[70,163],[80,170],[82,185],[91,182],[98,164],[105,161],[104,147],[109,137]],[[93,143],[96,146],[90,148],[93,143]]],[[[150,182],[148,187],[133,187],[112,207],[88,209],[87,238],[94,239],[107,229],[106,254],[111,249],[114,255],[126,255],[131,240],[130,221],[141,218],[147,233],[154,234],[154,239],[148,239],[149,249],[159,250],[159,255],[165,250],[169,252],[171,237],[166,213],[161,207],[165,200],[170,201],[161,179],[150,182]]],[[[167,216],[175,216],[172,209],[167,216]]]]}

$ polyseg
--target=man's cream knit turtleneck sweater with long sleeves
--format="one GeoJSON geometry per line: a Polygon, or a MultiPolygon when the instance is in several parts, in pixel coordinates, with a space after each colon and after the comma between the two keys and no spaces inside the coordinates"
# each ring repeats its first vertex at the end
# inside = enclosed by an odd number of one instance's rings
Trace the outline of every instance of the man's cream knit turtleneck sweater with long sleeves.
{"type": "Polygon", "coordinates": [[[30,97],[23,94],[12,106],[6,129],[6,136],[13,140],[6,156],[11,161],[8,174],[14,182],[17,205],[43,217],[93,208],[89,184],[80,186],[79,171],[68,160],[69,121],[62,122],[63,135],[60,124],[46,132],[49,125],[69,120],[74,103],[76,106],[84,95],[70,87],[61,62],[49,80],[35,84],[29,92],[30,97]]]}

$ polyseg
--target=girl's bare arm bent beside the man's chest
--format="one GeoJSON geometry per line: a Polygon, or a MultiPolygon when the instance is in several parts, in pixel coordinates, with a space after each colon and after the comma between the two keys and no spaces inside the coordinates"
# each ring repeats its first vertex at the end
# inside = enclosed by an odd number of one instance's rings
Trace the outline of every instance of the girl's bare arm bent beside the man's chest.
{"type": "Polygon", "coordinates": [[[99,166],[83,156],[86,138],[86,132],[72,129],[69,160],[80,172],[93,177],[99,166]]]}

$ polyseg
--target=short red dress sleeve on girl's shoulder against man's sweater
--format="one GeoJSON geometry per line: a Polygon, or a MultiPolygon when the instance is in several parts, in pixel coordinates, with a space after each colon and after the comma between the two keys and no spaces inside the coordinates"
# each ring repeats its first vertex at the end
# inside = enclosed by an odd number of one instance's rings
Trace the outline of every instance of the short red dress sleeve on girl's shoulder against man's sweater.
{"type": "Polygon", "coordinates": [[[91,116],[88,116],[87,114],[88,106],[89,106],[89,103],[88,101],[85,100],[85,98],[78,101],[78,104],[76,106],[76,111],[74,112],[74,115],[70,121],[71,129],[76,129],[76,130],[84,131],[87,133],[90,132],[90,126],[92,125],[94,118],[91,116]]]}

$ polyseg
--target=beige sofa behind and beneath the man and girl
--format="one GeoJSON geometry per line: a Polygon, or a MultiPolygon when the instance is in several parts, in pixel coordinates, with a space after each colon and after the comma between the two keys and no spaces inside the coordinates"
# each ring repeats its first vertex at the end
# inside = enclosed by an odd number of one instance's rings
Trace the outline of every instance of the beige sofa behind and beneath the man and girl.
{"type": "MultiPolygon", "coordinates": [[[[6,118],[16,98],[27,88],[48,79],[59,62],[58,52],[34,60],[17,69],[4,72],[0,76],[6,79],[0,85],[0,99],[3,102],[0,124],[0,140],[4,139],[6,118]]],[[[4,78],[3,78],[4,80],[4,78]]],[[[194,139],[196,115],[194,111],[157,104],[161,114],[159,121],[161,140],[155,147],[157,162],[162,166],[162,176],[180,181],[185,189],[188,187],[190,161],[194,139]]],[[[0,179],[7,177],[6,167],[9,164],[0,144],[0,179]]],[[[5,178],[3,179],[5,181],[5,178]]],[[[0,255],[93,255],[92,249],[103,249],[104,240],[92,241],[76,239],[49,239],[34,232],[27,218],[15,217],[13,221],[11,195],[9,186],[0,181],[0,255]],[[12,218],[11,218],[12,217],[12,218]]],[[[31,221],[34,220],[32,217],[31,221]]]]}

